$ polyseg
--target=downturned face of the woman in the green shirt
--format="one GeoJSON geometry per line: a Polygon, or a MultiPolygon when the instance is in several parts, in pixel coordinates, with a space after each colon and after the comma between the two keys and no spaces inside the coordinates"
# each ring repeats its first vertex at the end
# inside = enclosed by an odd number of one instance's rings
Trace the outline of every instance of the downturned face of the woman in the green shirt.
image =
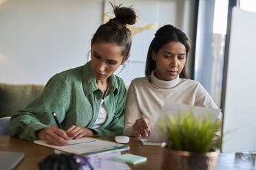
{"type": "Polygon", "coordinates": [[[107,42],[98,42],[92,45],[92,73],[96,81],[105,82],[112,75],[120,64],[123,64],[127,59],[123,59],[122,47],[107,42]]]}

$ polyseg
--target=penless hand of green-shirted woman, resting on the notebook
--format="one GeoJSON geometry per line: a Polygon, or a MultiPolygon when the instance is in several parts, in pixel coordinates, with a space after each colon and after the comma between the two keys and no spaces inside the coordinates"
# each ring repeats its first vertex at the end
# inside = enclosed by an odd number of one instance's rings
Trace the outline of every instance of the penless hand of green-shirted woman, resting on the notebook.
{"type": "Polygon", "coordinates": [[[74,138],[83,138],[84,136],[94,136],[94,132],[85,127],[78,127],[75,125],[70,126],[66,132],[73,132],[74,138]]]}

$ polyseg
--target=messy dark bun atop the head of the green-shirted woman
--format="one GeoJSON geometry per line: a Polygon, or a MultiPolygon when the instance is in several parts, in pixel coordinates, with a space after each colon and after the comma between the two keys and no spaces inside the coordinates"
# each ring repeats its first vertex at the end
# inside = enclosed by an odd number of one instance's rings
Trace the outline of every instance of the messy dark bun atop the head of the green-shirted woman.
{"type": "Polygon", "coordinates": [[[122,23],[123,25],[129,24],[129,25],[133,25],[134,23],[136,23],[136,12],[134,11],[133,8],[129,7],[120,7],[122,4],[120,5],[113,5],[111,3],[111,6],[114,10],[114,14],[115,14],[115,18],[114,21],[118,21],[119,23],[122,23]]]}

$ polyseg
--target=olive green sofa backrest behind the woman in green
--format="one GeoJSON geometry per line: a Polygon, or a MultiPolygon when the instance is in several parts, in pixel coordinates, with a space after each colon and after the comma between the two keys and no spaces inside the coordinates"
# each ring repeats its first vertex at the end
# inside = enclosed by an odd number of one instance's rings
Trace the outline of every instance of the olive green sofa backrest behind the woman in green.
{"type": "Polygon", "coordinates": [[[0,117],[11,117],[39,97],[43,85],[0,83],[0,117]]]}

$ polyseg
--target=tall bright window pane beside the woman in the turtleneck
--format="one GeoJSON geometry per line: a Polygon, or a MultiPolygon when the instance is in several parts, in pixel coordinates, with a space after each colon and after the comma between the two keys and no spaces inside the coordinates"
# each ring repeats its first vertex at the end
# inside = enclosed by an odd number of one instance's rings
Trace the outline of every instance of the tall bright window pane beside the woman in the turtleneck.
{"type": "Polygon", "coordinates": [[[200,1],[195,46],[195,80],[221,105],[228,0],[200,1]]]}

